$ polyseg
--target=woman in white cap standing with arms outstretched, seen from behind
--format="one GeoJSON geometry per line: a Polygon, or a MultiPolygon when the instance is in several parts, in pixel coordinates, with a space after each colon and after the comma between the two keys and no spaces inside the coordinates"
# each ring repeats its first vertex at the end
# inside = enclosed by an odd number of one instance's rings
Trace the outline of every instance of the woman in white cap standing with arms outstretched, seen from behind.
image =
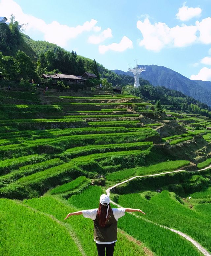
{"type": "Polygon", "coordinates": [[[125,215],[126,212],[138,211],[145,214],[139,209],[131,208],[111,208],[110,198],[103,194],[100,197],[98,209],[83,210],[72,212],[65,219],[72,215],[83,214],[85,218],[94,221],[94,241],[96,242],[98,256],[113,256],[114,246],[117,241],[117,221],[125,215]]]}

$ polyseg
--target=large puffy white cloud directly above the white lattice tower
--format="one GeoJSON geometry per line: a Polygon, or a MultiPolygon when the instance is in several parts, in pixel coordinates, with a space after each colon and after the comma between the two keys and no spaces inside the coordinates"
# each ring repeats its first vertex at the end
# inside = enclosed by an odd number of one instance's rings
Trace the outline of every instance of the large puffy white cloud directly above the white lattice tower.
{"type": "Polygon", "coordinates": [[[175,26],[169,28],[165,23],[151,24],[148,18],[137,22],[137,28],[141,31],[143,39],[139,45],[148,50],[160,51],[166,45],[184,47],[196,41],[195,26],[175,26]]]}

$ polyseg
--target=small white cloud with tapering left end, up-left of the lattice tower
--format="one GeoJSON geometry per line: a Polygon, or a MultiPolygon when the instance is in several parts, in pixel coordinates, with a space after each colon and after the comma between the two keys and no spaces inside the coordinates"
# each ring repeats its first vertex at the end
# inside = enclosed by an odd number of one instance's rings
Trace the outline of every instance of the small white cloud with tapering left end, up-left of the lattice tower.
{"type": "Polygon", "coordinates": [[[118,51],[118,52],[122,52],[125,51],[127,49],[132,49],[133,48],[133,42],[126,36],[124,36],[122,38],[122,40],[120,41],[119,44],[117,43],[112,43],[110,45],[99,45],[98,49],[100,53],[105,53],[108,50],[112,50],[112,51],[118,51]]]}

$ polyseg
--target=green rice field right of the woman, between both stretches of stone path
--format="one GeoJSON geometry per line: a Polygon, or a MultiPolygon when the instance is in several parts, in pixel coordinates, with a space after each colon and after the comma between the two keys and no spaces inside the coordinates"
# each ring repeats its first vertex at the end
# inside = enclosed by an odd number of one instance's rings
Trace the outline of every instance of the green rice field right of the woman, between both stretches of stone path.
{"type": "Polygon", "coordinates": [[[187,208],[168,191],[163,191],[150,200],[146,200],[140,194],[120,195],[118,203],[123,207],[129,205],[130,208],[141,206],[146,213],[143,218],[180,230],[211,251],[211,217],[202,216],[187,208]]]}

